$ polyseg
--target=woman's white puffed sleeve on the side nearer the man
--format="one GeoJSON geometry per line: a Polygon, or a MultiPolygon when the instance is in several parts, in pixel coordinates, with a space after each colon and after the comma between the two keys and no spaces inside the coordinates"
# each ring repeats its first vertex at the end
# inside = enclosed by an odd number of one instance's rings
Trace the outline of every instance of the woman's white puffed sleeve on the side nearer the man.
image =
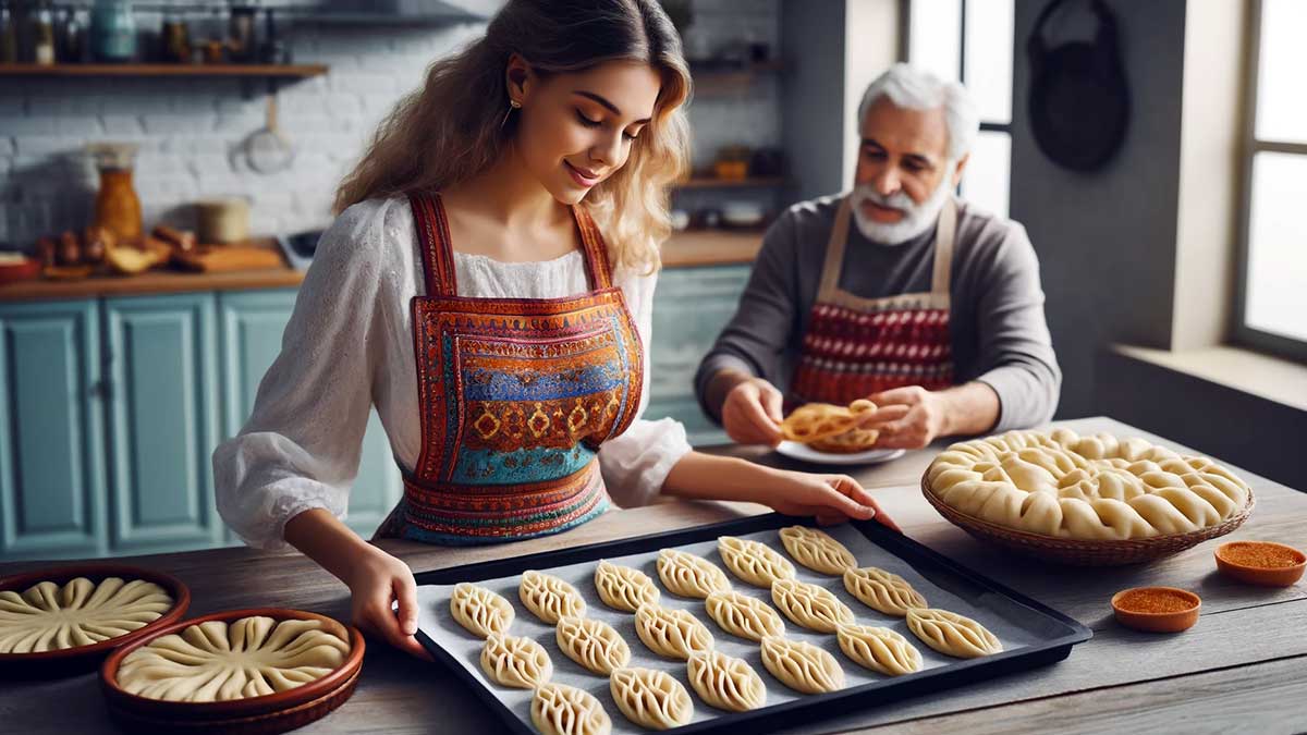
{"type": "Polygon", "coordinates": [[[635,328],[644,343],[644,390],[640,391],[639,413],[620,437],[599,447],[599,466],[613,502],[622,507],[648,504],[663,489],[672,466],[690,451],[685,426],[674,419],[646,421],[650,400],[650,353],[654,331],[654,286],[657,273],[618,273],[617,284],[626,297],[626,306],[635,316],[635,328]]]}

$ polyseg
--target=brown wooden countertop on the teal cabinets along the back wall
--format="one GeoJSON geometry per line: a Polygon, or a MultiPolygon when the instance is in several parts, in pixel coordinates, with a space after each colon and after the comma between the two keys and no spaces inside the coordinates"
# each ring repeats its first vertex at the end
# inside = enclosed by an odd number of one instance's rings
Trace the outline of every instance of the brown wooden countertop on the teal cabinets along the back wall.
{"type": "MultiPolygon", "coordinates": [[[[753,263],[762,247],[759,231],[689,230],[676,233],[663,246],[665,268],[736,265],[753,263]]],[[[188,273],[150,271],[137,276],[97,276],[80,281],[33,280],[0,285],[0,303],[17,301],[56,301],[115,296],[190,293],[294,288],[305,280],[302,271],[268,268],[227,273],[188,273]]]]}

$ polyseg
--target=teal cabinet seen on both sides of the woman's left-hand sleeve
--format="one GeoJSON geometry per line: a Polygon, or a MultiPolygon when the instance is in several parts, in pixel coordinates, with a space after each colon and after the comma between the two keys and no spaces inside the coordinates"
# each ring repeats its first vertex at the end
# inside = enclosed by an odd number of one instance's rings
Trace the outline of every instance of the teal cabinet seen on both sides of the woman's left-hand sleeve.
{"type": "MultiPolygon", "coordinates": [[[[281,335],[294,305],[294,289],[218,294],[222,323],[223,438],[234,437],[250,419],[259,382],[281,352],[281,335]]],[[[401,493],[399,467],[395,466],[389,441],[374,409],[363,437],[358,477],[349,494],[346,524],[365,539],[371,536],[399,502],[401,493]]]]}

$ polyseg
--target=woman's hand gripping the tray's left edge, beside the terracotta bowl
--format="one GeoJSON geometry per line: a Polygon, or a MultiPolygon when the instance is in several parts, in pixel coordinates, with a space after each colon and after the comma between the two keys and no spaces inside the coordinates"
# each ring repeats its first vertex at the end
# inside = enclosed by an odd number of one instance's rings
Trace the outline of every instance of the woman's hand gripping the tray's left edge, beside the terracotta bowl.
{"type": "Polygon", "coordinates": [[[352,598],[354,625],[396,649],[431,660],[417,633],[417,583],[406,564],[376,547],[367,547],[344,578],[352,598]],[[391,603],[399,600],[399,613],[391,603]]]}

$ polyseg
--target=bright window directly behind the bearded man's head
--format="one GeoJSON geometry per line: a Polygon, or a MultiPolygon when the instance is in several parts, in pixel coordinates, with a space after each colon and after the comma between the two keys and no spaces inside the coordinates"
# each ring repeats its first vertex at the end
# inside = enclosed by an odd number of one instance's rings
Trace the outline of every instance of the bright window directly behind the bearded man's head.
{"type": "Polygon", "coordinates": [[[907,61],[967,86],[980,109],[962,196],[1008,216],[1014,0],[908,0],[907,61]]]}

